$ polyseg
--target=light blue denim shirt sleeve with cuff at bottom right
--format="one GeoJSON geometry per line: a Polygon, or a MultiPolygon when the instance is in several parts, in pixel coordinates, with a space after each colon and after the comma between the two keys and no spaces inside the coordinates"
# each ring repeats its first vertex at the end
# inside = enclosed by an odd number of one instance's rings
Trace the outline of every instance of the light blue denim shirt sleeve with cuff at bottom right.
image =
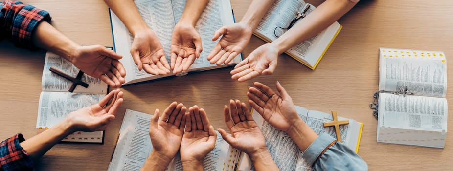
{"type": "Polygon", "coordinates": [[[315,171],[367,171],[368,165],[363,159],[345,144],[335,142],[319,159],[318,156],[335,139],[322,133],[305,150],[302,157],[313,166],[315,171]]]}

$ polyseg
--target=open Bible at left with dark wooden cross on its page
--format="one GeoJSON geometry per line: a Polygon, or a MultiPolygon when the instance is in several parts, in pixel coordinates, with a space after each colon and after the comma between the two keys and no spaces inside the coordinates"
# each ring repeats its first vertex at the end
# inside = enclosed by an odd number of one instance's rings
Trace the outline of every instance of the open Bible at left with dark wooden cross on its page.
{"type": "MultiPolygon", "coordinates": [[[[49,68],[56,68],[72,77],[79,73],[79,69],[68,60],[52,53],[45,54],[45,64],[42,78],[42,89],[39,98],[38,119],[36,128],[47,129],[58,124],[66,116],[75,110],[96,104],[108,93],[108,85],[100,79],[84,74],[81,81],[87,83],[88,88],[76,86],[74,93],[68,92],[72,85],[61,76],[49,71],[49,68]]],[[[103,143],[104,131],[96,132],[75,132],[63,142],[86,142],[103,143]]]]}

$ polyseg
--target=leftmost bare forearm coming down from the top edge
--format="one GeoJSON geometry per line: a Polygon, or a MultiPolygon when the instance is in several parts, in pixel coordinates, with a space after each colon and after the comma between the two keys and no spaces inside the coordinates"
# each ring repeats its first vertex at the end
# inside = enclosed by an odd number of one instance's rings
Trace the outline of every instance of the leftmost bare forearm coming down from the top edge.
{"type": "Polygon", "coordinates": [[[124,23],[126,28],[136,35],[142,30],[149,30],[148,25],[140,16],[134,0],[104,0],[116,16],[124,23]]]}

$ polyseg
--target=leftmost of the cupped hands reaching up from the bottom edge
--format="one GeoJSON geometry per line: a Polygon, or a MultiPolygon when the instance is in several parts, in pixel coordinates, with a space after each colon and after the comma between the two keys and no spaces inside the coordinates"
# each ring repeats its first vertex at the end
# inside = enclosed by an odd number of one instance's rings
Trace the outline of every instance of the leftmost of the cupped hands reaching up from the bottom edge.
{"type": "Polygon", "coordinates": [[[185,112],[187,108],[182,103],[173,102],[163,112],[156,109],[151,118],[149,136],[153,144],[153,152],[172,160],[181,146],[182,134],[186,124],[185,112]]]}

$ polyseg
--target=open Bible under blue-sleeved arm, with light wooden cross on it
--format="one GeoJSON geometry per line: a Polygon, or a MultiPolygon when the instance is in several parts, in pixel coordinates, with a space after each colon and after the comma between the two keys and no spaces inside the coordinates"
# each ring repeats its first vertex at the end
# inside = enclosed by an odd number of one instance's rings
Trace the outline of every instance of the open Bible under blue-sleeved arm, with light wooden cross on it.
{"type": "MultiPolygon", "coordinates": [[[[334,127],[323,127],[324,122],[332,121],[332,115],[316,110],[307,110],[304,107],[294,106],[297,114],[302,120],[307,123],[318,135],[328,133],[336,138],[334,127]]],[[[266,147],[271,153],[272,159],[277,164],[280,171],[311,171],[313,170],[303,158],[304,151],[300,150],[291,137],[266,122],[261,115],[255,110],[252,111],[252,116],[266,139],[266,147]]],[[[358,152],[360,138],[362,135],[363,124],[353,119],[341,118],[339,120],[349,120],[349,125],[340,125],[342,143],[346,144],[352,150],[358,152]]],[[[254,171],[247,154],[242,153],[238,165],[238,171],[254,171]]]]}

